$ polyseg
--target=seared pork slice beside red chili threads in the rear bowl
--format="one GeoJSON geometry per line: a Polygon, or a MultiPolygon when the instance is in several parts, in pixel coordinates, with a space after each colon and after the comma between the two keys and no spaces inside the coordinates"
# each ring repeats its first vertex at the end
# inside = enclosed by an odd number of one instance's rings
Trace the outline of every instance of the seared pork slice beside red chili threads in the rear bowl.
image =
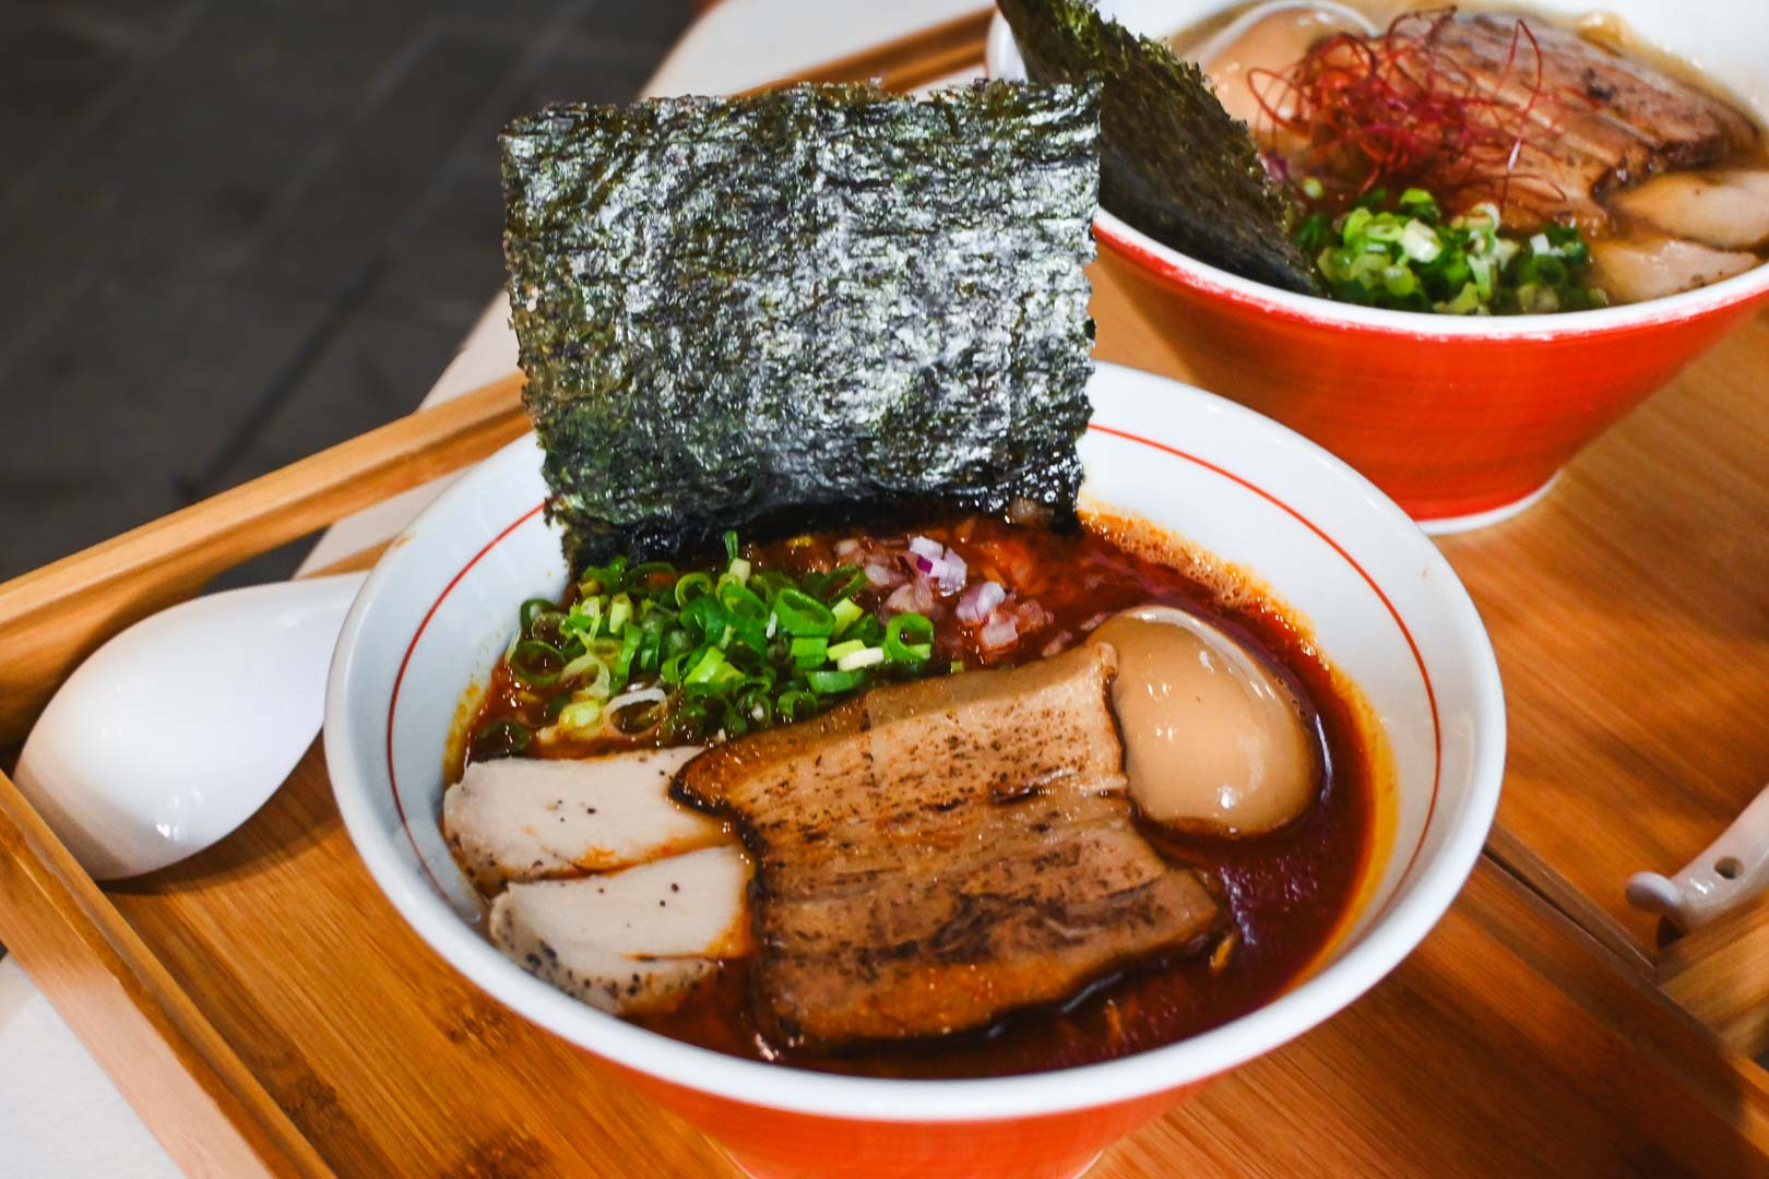
{"type": "MultiPolygon", "coordinates": [[[[1530,106],[1525,150],[1509,205],[1541,219],[1567,209],[1601,224],[1596,198],[1672,168],[1705,168],[1757,141],[1739,110],[1643,62],[1574,32],[1530,21],[1535,53],[1518,18],[1479,14],[1444,21],[1433,44],[1465,81],[1509,106],[1530,106]]],[[[1444,65],[1444,62],[1440,62],[1444,65]]],[[[1507,214],[1509,219],[1509,214],[1507,214]]]]}

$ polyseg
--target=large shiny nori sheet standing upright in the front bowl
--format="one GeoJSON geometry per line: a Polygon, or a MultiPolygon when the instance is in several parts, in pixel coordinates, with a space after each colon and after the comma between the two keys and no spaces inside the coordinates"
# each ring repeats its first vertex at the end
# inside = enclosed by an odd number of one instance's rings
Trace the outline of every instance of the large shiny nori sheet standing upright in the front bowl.
{"type": "Polygon", "coordinates": [[[571,567],[840,506],[1072,518],[1097,138],[1097,87],[1001,81],[515,120],[511,323],[571,567]]]}

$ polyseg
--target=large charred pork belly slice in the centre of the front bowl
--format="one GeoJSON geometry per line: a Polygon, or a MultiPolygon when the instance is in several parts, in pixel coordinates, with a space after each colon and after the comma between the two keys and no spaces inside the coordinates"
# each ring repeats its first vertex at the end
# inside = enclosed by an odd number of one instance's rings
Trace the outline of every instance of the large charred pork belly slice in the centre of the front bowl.
{"type": "Polygon", "coordinates": [[[768,1034],[939,1036],[1201,944],[1222,912],[1125,799],[1113,649],[876,689],[718,746],[676,778],[755,859],[768,1034]]]}

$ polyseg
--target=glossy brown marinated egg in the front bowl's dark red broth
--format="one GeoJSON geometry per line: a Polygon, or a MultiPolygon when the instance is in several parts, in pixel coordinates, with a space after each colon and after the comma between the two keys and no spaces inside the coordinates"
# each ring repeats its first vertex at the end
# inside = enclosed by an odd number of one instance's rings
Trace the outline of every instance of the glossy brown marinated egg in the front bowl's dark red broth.
{"type": "Polygon", "coordinates": [[[1206,619],[1139,606],[1093,638],[1118,650],[1113,712],[1145,815],[1217,834],[1260,834],[1320,790],[1320,746],[1290,688],[1206,619]]]}

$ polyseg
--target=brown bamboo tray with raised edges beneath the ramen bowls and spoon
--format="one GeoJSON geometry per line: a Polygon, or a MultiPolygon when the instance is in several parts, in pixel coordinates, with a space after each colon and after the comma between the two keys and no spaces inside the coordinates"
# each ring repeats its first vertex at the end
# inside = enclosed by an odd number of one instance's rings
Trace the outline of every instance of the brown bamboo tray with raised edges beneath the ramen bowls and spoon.
{"type": "MultiPolygon", "coordinates": [[[[975,60],[980,28],[817,76],[927,81],[975,60]]],[[[1180,373],[1100,267],[1095,316],[1102,359],[1180,373]]],[[[1750,527],[1769,514],[1765,377],[1758,318],[1528,516],[1445,543],[1507,677],[1512,769],[1488,856],[1369,995],[1095,1174],[1769,1174],[1769,1075],[1665,999],[1654,930],[1620,905],[1627,871],[1681,864],[1769,776],[1751,723],[1769,704],[1769,551],[1750,527]]],[[[517,437],[515,391],[0,585],[0,742],[129,620],[517,437]]],[[[108,889],[0,776],[0,940],[191,1174],[736,1174],[407,930],[317,748],[234,836],[108,889]]]]}

